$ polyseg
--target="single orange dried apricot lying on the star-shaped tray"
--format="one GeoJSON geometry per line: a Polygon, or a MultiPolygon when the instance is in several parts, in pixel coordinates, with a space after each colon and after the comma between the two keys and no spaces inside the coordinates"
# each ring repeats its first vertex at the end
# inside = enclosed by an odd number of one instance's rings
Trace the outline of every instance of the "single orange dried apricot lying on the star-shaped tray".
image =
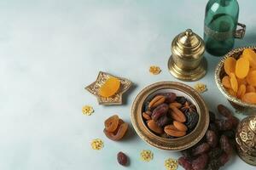
{"type": "Polygon", "coordinates": [[[109,77],[108,80],[102,84],[98,94],[104,98],[113,96],[120,88],[120,81],[116,77],[109,77]]]}

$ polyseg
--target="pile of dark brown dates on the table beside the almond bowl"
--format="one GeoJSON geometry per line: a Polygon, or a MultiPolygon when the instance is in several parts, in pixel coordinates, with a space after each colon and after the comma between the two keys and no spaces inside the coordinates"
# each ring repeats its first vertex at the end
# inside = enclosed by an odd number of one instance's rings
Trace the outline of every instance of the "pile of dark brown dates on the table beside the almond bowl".
{"type": "Polygon", "coordinates": [[[218,105],[218,112],[225,118],[216,119],[210,111],[206,135],[192,148],[183,150],[183,156],[178,159],[186,170],[218,170],[230,160],[239,120],[224,105],[218,105]]]}

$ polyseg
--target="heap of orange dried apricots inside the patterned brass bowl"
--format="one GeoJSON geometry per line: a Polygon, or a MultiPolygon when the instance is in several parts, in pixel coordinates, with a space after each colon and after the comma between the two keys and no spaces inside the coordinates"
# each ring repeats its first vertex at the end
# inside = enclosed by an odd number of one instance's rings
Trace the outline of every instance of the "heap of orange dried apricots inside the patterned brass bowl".
{"type": "Polygon", "coordinates": [[[232,95],[250,104],[256,104],[256,53],[244,49],[239,59],[229,57],[224,60],[222,78],[224,88],[232,95]]]}

